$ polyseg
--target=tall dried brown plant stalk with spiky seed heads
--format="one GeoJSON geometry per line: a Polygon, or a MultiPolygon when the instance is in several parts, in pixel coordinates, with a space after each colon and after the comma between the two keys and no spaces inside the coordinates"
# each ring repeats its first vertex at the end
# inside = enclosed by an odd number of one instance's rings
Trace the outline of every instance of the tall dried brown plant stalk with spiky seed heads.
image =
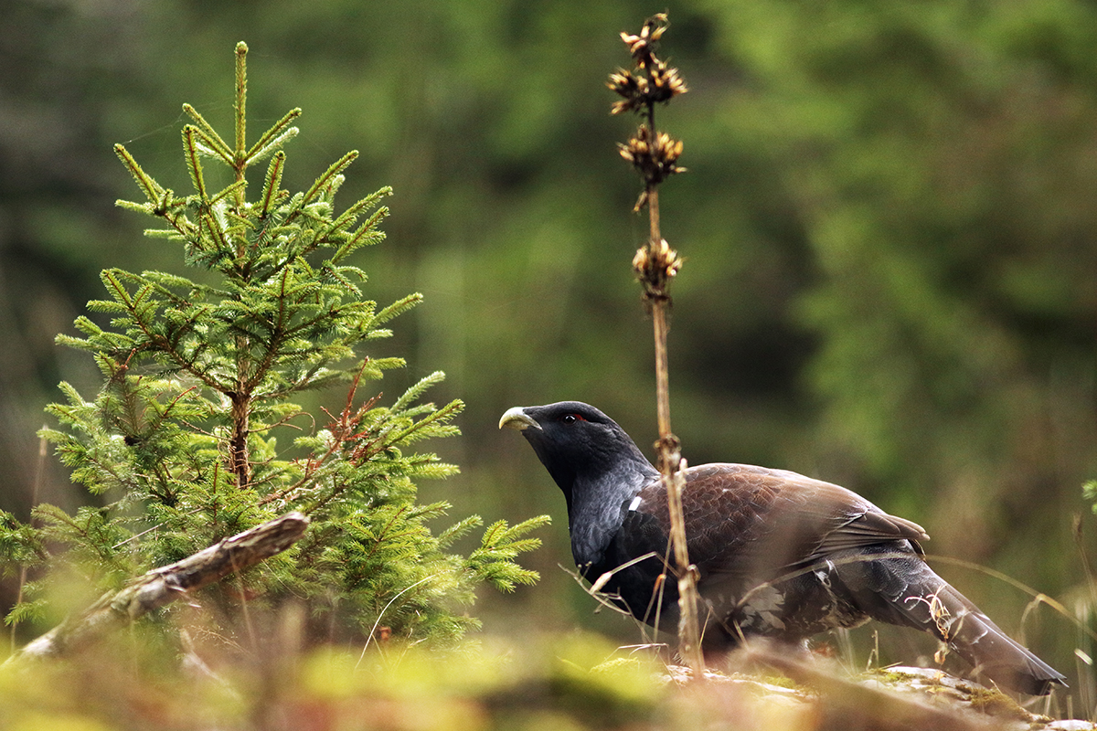
{"type": "Polygon", "coordinates": [[[644,289],[644,302],[652,313],[655,340],[656,412],[659,439],[658,467],[663,484],[667,491],[670,513],[670,548],[674,553],[674,573],[678,578],[680,653],[692,669],[693,676],[704,677],[704,658],[701,653],[701,631],[698,621],[700,597],[697,592],[697,567],[689,560],[687,549],[686,521],[682,512],[681,493],[686,487],[682,471],[686,460],[681,456],[681,444],[670,429],[670,377],[667,357],[667,334],[669,330],[670,282],[681,270],[681,259],[670,248],[660,233],[659,184],[669,175],[683,172],[678,158],[682,144],[655,126],[655,105],[666,104],[674,96],[687,91],[678,70],[667,66],[655,54],[659,38],[669,27],[666,13],[653,15],[644,22],[640,34],[621,33],[621,39],[629,47],[634,68],[619,69],[607,83],[610,90],[621,95],[611,107],[612,114],[636,112],[643,117],[636,133],[626,145],[620,145],[621,157],[632,163],[640,173],[644,190],[636,201],[634,210],[647,207],[649,236],[647,244],[633,258],[633,271],[644,289]]]}

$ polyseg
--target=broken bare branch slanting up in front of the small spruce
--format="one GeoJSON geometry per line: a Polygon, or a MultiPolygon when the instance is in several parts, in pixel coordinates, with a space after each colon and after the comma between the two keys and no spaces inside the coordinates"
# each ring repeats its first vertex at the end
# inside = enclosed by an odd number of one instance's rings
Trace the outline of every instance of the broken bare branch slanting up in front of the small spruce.
{"type": "Polygon", "coordinates": [[[104,632],[123,627],[154,609],[203,586],[220,581],[281,553],[303,535],[308,518],[286,513],[253,528],[225,538],[170,566],[152,569],[116,592],[104,594],[79,615],[30,642],[4,663],[42,660],[69,654],[104,632]]]}

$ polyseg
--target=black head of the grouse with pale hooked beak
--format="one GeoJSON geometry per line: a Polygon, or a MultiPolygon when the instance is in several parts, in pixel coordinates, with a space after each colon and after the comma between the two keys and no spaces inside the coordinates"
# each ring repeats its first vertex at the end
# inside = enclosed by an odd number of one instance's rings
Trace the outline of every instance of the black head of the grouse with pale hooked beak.
{"type": "Polygon", "coordinates": [[[615,473],[638,486],[638,478],[657,473],[615,421],[581,401],[516,407],[502,414],[504,426],[522,432],[569,505],[577,482],[595,484],[615,473]]]}

